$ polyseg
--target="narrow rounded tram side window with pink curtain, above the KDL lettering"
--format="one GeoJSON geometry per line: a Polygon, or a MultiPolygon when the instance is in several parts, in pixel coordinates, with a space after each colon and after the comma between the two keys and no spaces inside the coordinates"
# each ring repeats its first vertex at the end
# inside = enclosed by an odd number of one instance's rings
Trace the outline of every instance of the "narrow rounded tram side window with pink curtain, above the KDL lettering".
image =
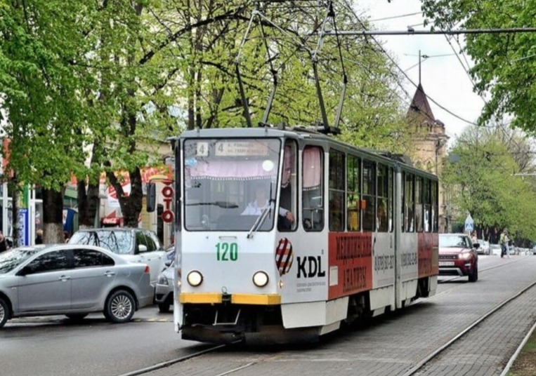
{"type": "Polygon", "coordinates": [[[306,231],[322,231],[324,228],[324,202],[322,177],[324,176],[322,148],[308,146],[303,149],[302,221],[306,231]]]}

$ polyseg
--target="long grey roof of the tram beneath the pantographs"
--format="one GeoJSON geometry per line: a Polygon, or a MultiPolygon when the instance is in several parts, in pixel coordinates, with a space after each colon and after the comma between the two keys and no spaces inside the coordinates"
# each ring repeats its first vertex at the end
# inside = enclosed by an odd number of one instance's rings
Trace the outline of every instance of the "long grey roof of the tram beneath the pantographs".
{"type": "Polygon", "coordinates": [[[325,142],[327,145],[335,146],[341,149],[341,151],[358,152],[358,154],[366,155],[370,159],[384,161],[388,164],[398,164],[399,166],[403,166],[404,170],[410,170],[412,173],[437,178],[436,175],[433,175],[432,173],[412,166],[411,161],[407,156],[403,156],[402,154],[393,154],[386,150],[356,147],[355,145],[350,145],[346,142],[336,140],[334,137],[326,135],[325,133],[320,133],[311,127],[294,126],[281,129],[266,126],[258,128],[210,128],[185,130],[180,136],[171,137],[170,140],[196,137],[289,137],[303,140],[315,140],[319,143],[325,142]]]}

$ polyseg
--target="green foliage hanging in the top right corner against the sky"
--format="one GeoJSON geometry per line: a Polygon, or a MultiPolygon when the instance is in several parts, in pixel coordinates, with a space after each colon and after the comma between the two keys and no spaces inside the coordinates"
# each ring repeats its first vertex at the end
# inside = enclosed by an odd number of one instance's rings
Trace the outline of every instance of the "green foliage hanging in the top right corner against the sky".
{"type": "MultiPolygon", "coordinates": [[[[465,1],[424,0],[423,10],[440,29],[491,29],[535,27],[535,0],[465,1]]],[[[429,22],[430,22],[429,21],[429,22]]],[[[479,121],[486,123],[514,114],[513,126],[536,130],[536,34],[500,33],[466,35],[466,52],[474,67],[474,90],[489,91],[491,99],[479,121]]]]}

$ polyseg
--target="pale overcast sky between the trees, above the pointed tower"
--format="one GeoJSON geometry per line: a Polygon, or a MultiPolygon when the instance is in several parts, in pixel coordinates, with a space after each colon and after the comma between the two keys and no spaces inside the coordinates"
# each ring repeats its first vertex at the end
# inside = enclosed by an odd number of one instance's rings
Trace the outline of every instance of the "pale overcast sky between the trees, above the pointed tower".
{"type": "MultiPolygon", "coordinates": [[[[387,0],[358,0],[355,11],[362,17],[368,16],[375,29],[383,31],[404,31],[408,26],[415,30],[429,29],[422,25],[419,0],[392,0],[391,3],[387,0]],[[392,18],[413,13],[419,14],[392,18]],[[382,18],[392,19],[381,20],[382,18]]],[[[466,61],[472,65],[469,56],[457,54],[460,51],[459,44],[463,45],[463,36],[449,37],[454,50],[443,35],[377,36],[377,39],[385,42],[384,48],[415,84],[419,83],[419,50],[421,55],[429,56],[421,58],[421,84],[429,97],[433,115],[445,123],[451,143],[468,123],[457,119],[445,109],[467,121],[476,121],[484,102],[473,93],[473,84],[457,58],[458,56],[465,66],[466,61]]],[[[404,87],[407,93],[414,95],[416,88],[409,80],[405,80],[404,87]]],[[[410,102],[410,99],[407,101],[410,102]]]]}

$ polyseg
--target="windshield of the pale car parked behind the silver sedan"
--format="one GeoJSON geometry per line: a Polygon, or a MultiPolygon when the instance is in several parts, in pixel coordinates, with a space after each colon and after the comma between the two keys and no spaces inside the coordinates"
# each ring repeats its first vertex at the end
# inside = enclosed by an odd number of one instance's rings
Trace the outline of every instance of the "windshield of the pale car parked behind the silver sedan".
{"type": "Polygon", "coordinates": [[[100,246],[113,253],[129,254],[133,249],[133,236],[130,231],[77,231],[69,240],[70,244],[100,246]]]}

